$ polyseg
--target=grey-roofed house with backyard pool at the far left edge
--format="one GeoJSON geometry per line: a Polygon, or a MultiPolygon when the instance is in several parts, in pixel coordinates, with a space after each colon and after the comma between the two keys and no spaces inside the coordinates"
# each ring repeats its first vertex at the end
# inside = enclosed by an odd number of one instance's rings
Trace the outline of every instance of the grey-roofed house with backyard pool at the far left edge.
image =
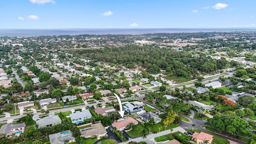
{"type": "Polygon", "coordinates": [[[20,133],[24,132],[25,123],[22,124],[4,124],[0,128],[0,134],[12,135],[14,133],[16,136],[20,136],[20,133]]]}

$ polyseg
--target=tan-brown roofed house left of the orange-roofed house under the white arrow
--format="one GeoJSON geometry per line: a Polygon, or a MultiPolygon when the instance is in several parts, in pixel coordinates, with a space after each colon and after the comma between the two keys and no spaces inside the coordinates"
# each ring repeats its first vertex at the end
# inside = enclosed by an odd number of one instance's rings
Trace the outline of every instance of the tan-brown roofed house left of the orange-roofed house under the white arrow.
{"type": "Polygon", "coordinates": [[[106,129],[102,126],[101,123],[91,124],[91,127],[84,128],[81,131],[85,138],[90,138],[93,136],[101,137],[107,134],[106,129]]]}

